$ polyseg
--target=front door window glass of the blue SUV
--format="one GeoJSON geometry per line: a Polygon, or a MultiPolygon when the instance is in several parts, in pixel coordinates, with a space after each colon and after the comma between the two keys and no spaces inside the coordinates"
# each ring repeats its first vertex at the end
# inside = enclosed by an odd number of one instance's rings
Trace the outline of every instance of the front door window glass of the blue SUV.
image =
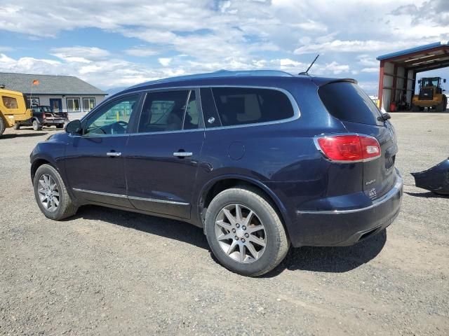
{"type": "Polygon", "coordinates": [[[131,114],[135,110],[138,96],[126,97],[108,104],[88,118],[84,127],[85,136],[124,134],[128,128],[131,114]]]}

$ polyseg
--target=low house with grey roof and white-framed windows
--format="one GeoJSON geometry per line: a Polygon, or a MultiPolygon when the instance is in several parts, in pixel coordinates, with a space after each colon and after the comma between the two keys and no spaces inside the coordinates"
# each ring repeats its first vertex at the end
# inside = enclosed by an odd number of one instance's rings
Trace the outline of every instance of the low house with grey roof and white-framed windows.
{"type": "Polygon", "coordinates": [[[74,76],[33,75],[0,72],[0,85],[23,92],[32,106],[51,106],[69,113],[69,119],[83,116],[100,104],[106,92],[74,76]]]}

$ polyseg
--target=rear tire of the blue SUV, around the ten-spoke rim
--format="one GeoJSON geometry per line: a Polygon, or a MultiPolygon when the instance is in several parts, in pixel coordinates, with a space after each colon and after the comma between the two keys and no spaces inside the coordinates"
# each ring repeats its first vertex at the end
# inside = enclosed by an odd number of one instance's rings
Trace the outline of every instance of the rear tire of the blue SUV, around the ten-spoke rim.
{"type": "MultiPolygon", "coordinates": [[[[237,217],[234,215],[234,219],[237,217]]],[[[286,230],[272,202],[260,195],[256,188],[247,186],[227,189],[215,196],[206,211],[205,232],[215,258],[227,269],[245,276],[260,276],[271,271],[286,257],[290,247],[286,230]],[[241,221],[233,224],[225,210],[231,215],[236,214],[236,204],[239,205],[241,221]],[[250,211],[253,211],[252,217],[249,216],[250,211]],[[249,223],[246,222],[248,217],[249,223]],[[259,225],[263,229],[257,230],[259,225]],[[225,236],[229,238],[224,239],[225,236]],[[245,246],[243,249],[242,245],[245,246]]]]}

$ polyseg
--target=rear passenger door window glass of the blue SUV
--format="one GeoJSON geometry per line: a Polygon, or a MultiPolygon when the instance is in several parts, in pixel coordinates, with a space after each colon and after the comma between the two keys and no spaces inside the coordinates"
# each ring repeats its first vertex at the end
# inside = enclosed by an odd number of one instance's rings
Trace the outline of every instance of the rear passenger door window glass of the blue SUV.
{"type": "MultiPolygon", "coordinates": [[[[188,97],[189,90],[148,93],[142,109],[142,116],[140,116],[138,132],[182,130],[182,121],[185,117],[188,97]]],[[[190,110],[191,115],[189,115],[189,118],[186,118],[185,125],[195,121],[194,110],[196,110],[196,125],[198,125],[196,100],[189,100],[189,108],[187,109],[190,110]]],[[[189,125],[189,127],[192,128],[194,125],[189,125]]]]}

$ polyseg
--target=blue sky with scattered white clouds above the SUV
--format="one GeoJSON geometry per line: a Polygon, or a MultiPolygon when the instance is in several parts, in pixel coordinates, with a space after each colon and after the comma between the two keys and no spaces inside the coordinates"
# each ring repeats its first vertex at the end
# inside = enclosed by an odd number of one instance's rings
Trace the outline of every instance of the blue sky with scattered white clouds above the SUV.
{"type": "Polygon", "coordinates": [[[311,73],[375,94],[376,56],[449,40],[449,1],[3,1],[0,36],[0,71],[104,90],[219,69],[298,73],[320,53],[311,73]]]}

